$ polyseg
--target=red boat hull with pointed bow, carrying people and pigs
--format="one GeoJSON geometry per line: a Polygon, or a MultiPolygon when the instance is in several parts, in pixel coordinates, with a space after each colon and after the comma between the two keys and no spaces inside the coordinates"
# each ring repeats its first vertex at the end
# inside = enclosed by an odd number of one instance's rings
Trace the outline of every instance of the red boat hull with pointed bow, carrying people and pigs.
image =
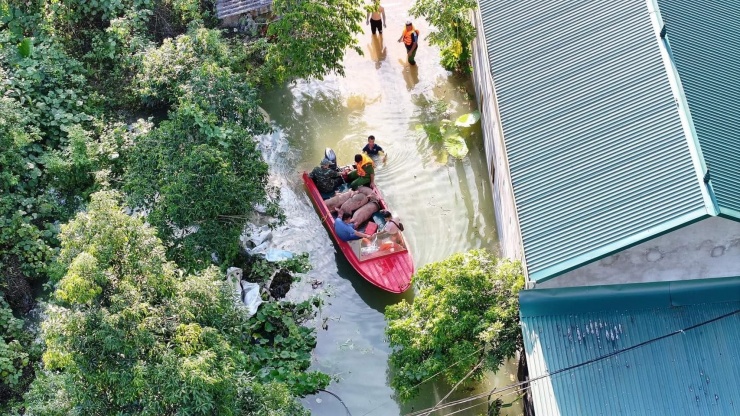
{"type": "MultiPolygon", "coordinates": [[[[303,172],[303,183],[306,184],[308,196],[319,211],[321,222],[326,225],[329,234],[337,242],[339,249],[347,258],[347,261],[357,270],[362,277],[375,286],[391,293],[402,293],[411,286],[411,276],[414,274],[414,261],[408,250],[408,244],[399,232],[400,240],[395,242],[385,241],[382,233],[379,234],[380,241],[368,241],[366,239],[342,241],[334,231],[334,217],[324,203],[321,194],[314,181],[303,172]]],[[[387,209],[380,191],[374,189],[378,197],[381,209],[387,209]]],[[[372,220],[371,220],[372,221],[372,220]]]]}

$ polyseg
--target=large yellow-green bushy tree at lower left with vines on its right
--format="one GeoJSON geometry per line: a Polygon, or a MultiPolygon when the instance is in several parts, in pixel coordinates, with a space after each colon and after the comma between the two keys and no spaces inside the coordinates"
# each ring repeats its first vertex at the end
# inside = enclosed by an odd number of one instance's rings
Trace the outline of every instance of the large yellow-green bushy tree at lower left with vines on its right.
{"type": "Polygon", "coordinates": [[[312,306],[267,303],[248,319],[215,268],[186,275],[154,229],[111,192],[62,227],[55,303],[43,323],[45,372],[31,414],[305,412],[293,399],[328,384],[305,370],[312,306]],[[63,413],[63,412],[62,412],[63,413]]]}

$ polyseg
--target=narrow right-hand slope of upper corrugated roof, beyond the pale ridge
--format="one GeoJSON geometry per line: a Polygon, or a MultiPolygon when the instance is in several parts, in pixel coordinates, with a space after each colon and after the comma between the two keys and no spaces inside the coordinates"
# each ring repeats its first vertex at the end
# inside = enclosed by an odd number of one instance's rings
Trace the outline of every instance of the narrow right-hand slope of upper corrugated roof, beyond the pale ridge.
{"type": "Polygon", "coordinates": [[[658,6],[720,212],[740,220],[740,1],[658,6]]]}

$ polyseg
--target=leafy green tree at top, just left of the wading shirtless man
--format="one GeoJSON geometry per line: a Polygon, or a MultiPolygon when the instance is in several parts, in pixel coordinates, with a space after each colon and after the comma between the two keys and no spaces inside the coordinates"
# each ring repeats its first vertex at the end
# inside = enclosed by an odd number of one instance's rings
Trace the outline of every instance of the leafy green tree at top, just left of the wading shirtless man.
{"type": "Polygon", "coordinates": [[[344,76],[344,52],[352,48],[362,55],[355,34],[362,32],[364,14],[355,1],[275,0],[273,11],[279,18],[268,27],[266,60],[277,82],[344,76]]]}

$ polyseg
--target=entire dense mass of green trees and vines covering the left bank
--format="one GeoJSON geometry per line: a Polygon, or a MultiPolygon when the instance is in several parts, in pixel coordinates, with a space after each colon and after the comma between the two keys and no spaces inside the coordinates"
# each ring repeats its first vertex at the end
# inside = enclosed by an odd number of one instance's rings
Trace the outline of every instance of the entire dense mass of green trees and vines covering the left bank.
{"type": "Polygon", "coordinates": [[[275,7],[235,33],[211,1],[0,0],[4,414],[294,415],[328,383],[313,302],[247,318],[224,287],[256,207],[280,217],[258,89],[342,73],[362,19],[275,7]]]}

